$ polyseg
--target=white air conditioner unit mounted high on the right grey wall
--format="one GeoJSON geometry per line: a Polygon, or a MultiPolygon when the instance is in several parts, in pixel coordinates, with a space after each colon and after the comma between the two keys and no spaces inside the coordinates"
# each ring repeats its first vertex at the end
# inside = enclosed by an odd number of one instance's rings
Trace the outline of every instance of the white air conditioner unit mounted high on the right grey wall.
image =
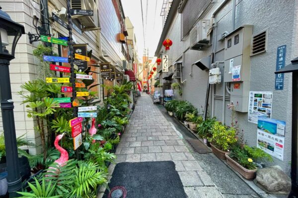
{"type": "Polygon", "coordinates": [[[189,33],[190,49],[203,50],[210,46],[210,20],[200,20],[189,33]]]}

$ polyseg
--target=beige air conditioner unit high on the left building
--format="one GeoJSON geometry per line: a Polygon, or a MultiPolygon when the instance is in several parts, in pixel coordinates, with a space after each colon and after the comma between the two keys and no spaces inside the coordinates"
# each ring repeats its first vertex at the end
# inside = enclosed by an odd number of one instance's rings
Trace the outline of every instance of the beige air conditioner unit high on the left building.
{"type": "Polygon", "coordinates": [[[97,4],[94,0],[71,0],[71,7],[72,9],[93,10],[93,16],[74,15],[73,18],[77,18],[84,27],[98,27],[97,4]]]}

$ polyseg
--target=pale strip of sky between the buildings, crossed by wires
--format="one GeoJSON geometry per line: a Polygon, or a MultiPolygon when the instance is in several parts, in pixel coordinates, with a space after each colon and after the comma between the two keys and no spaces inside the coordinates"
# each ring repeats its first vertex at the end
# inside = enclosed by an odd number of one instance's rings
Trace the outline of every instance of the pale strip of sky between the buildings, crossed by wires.
{"type": "MultiPolygon", "coordinates": [[[[129,17],[133,26],[137,40],[139,58],[144,55],[144,36],[142,24],[141,0],[121,0],[124,14],[129,17]]],[[[149,49],[149,56],[154,56],[157,44],[162,31],[162,17],[160,16],[163,0],[142,0],[144,33],[146,49],[149,49]],[[147,22],[146,22],[146,10],[147,22]],[[155,11],[156,5],[156,11],[155,11]],[[154,17],[155,14],[155,17],[154,17]]]]}

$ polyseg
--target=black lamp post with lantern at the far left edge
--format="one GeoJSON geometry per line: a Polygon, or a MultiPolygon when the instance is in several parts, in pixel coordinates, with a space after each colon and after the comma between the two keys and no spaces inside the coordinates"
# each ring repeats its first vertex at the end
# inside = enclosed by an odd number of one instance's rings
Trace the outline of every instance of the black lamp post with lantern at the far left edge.
{"type": "Polygon", "coordinates": [[[9,78],[9,61],[14,58],[16,43],[25,34],[24,26],[15,23],[0,7],[0,103],[5,139],[7,183],[9,197],[19,197],[16,191],[21,189],[18,153],[16,146],[13,117],[13,101],[9,78]]]}

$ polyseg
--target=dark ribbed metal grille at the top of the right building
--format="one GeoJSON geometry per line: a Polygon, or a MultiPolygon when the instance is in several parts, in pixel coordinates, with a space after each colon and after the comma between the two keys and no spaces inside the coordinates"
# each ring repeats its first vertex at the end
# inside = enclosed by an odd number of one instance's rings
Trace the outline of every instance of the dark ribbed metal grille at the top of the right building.
{"type": "Polygon", "coordinates": [[[181,38],[183,39],[202,17],[204,11],[210,6],[212,0],[188,0],[182,10],[181,38]]]}

